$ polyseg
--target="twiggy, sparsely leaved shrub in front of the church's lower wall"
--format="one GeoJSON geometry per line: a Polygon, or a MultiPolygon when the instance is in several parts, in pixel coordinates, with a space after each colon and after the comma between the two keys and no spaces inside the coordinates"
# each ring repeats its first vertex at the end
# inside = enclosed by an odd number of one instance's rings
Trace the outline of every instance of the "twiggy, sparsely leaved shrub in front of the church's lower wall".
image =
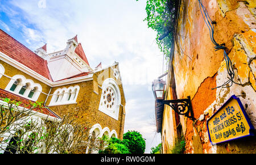
{"type": "Polygon", "coordinates": [[[60,119],[36,117],[41,103],[23,103],[3,99],[0,105],[0,153],[85,153],[85,150],[98,150],[100,141],[92,138],[90,124],[77,121],[75,113],[60,119]],[[20,105],[22,105],[22,108],[20,105]]]}

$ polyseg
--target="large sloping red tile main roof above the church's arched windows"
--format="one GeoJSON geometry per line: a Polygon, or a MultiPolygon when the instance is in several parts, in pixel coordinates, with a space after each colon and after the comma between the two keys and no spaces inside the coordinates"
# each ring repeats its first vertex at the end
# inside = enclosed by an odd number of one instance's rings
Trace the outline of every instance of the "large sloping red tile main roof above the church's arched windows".
{"type": "Polygon", "coordinates": [[[47,61],[0,29],[0,52],[52,81],[47,61]]]}

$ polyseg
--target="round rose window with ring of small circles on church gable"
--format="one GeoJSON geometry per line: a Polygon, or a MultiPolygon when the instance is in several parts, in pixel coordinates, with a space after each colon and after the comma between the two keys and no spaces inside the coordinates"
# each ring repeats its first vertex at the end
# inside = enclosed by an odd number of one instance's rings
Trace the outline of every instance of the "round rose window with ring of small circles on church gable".
{"type": "Polygon", "coordinates": [[[115,104],[115,92],[112,87],[107,87],[103,92],[103,99],[105,107],[113,109],[115,104]]]}

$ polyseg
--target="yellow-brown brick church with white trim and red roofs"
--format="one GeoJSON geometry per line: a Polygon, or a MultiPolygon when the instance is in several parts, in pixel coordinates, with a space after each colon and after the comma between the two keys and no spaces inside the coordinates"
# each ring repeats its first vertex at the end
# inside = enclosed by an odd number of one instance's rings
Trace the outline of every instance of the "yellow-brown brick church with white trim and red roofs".
{"type": "Polygon", "coordinates": [[[50,120],[76,110],[79,122],[89,122],[97,137],[123,136],[126,100],[119,64],[93,69],[77,36],[63,50],[47,52],[46,44],[32,52],[0,29],[0,98],[44,103],[47,108],[37,115],[50,120]]]}

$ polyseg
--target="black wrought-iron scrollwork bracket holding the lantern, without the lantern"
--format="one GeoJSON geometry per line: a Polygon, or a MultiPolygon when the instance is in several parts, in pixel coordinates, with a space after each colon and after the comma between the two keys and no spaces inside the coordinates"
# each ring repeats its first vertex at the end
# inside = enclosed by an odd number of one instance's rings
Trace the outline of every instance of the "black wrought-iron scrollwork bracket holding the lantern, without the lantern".
{"type": "Polygon", "coordinates": [[[192,121],[196,120],[194,118],[190,96],[188,96],[188,99],[163,100],[162,103],[169,105],[179,115],[184,115],[192,121]]]}

